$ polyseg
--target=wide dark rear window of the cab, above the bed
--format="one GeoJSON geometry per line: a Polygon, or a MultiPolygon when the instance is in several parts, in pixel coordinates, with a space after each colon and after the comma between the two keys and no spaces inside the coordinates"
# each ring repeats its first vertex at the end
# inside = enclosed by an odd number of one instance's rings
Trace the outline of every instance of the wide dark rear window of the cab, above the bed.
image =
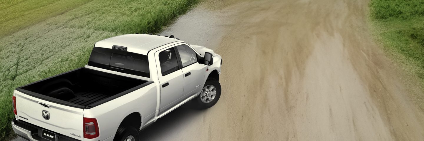
{"type": "Polygon", "coordinates": [[[123,50],[94,47],[88,65],[131,75],[150,77],[147,56],[123,50]]]}

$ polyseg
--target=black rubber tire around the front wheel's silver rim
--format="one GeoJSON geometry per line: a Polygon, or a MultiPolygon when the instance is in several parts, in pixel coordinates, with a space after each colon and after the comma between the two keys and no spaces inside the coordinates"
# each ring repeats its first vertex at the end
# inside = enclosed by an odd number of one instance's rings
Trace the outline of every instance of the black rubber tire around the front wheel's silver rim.
{"type": "Polygon", "coordinates": [[[204,88],[202,88],[201,94],[192,100],[191,106],[194,109],[202,110],[202,109],[211,108],[213,105],[216,104],[216,102],[218,102],[219,98],[221,97],[221,84],[218,82],[218,80],[209,78],[208,80],[206,80],[206,83],[203,87],[204,88]],[[215,98],[211,100],[209,103],[205,103],[205,102],[202,102],[201,97],[202,97],[202,93],[204,92],[203,89],[209,85],[212,85],[216,88],[216,95],[215,95],[215,98]]]}

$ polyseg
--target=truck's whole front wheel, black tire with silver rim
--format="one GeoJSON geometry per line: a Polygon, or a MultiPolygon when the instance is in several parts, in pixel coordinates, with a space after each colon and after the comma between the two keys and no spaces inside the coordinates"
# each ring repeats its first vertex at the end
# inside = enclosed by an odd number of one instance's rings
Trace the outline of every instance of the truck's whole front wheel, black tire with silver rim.
{"type": "Polygon", "coordinates": [[[194,108],[207,109],[211,108],[218,102],[221,96],[221,85],[218,80],[208,79],[200,92],[199,96],[193,99],[194,108]]]}

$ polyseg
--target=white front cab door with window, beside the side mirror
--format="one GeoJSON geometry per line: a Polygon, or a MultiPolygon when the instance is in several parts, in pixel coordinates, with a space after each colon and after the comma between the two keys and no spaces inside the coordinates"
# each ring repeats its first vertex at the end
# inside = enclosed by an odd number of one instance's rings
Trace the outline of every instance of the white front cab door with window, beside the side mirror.
{"type": "Polygon", "coordinates": [[[187,44],[175,45],[181,61],[182,72],[184,74],[184,92],[182,100],[198,94],[204,85],[205,65],[199,64],[196,52],[187,44]]]}

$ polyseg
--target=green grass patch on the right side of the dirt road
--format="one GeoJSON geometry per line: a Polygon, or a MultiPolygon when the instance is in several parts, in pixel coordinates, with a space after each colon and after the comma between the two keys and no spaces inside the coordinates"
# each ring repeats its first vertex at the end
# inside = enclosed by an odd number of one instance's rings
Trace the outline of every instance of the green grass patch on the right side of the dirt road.
{"type": "MultiPolygon", "coordinates": [[[[424,89],[424,0],[371,0],[370,8],[377,40],[424,89]]],[[[413,98],[424,110],[424,94],[413,98]]]]}

